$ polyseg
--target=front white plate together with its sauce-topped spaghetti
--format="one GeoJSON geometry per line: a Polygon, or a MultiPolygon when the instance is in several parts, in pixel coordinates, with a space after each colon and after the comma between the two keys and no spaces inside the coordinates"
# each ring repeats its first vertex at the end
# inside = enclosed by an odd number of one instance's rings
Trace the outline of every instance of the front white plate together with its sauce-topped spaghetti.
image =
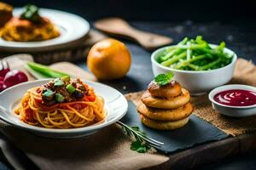
{"type": "Polygon", "coordinates": [[[69,77],[20,83],[0,94],[4,122],[49,138],[76,138],[119,121],[125,97],[99,82],[69,77]]]}

